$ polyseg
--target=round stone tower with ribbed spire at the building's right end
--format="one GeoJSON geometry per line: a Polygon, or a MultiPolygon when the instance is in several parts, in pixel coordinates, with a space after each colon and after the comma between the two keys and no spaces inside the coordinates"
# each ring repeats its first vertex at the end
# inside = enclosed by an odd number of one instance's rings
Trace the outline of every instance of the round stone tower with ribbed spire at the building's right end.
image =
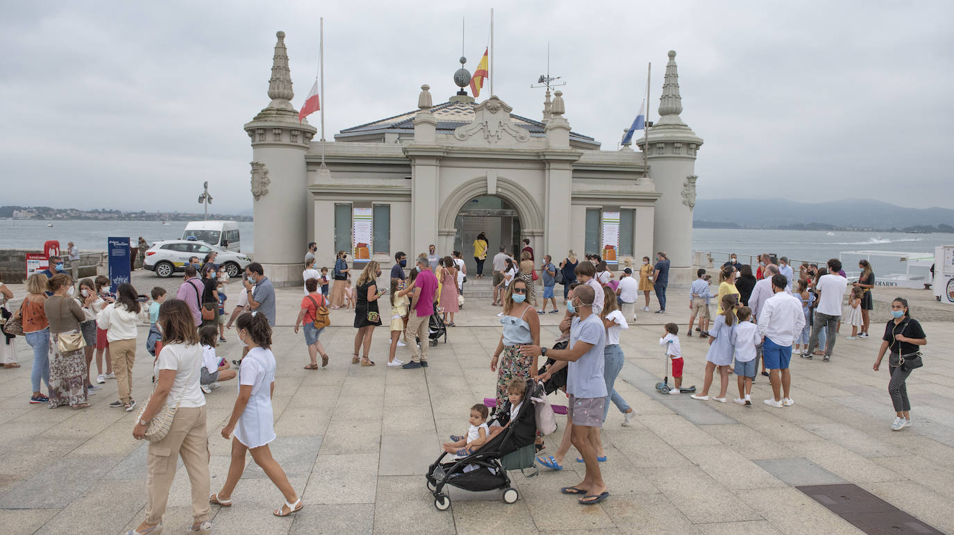
{"type": "MultiPolygon", "coordinates": [[[[649,177],[662,194],[655,202],[653,254],[663,251],[669,257],[670,282],[684,282],[692,277],[693,208],[695,207],[695,153],[702,138],[695,135],[679,116],[679,74],[675,67],[675,51],[669,51],[662,96],[659,97],[659,120],[648,134],[649,147],[639,137],[636,144],[649,160],[649,177]]],[[[648,117],[647,117],[648,118],[648,117]]]]}

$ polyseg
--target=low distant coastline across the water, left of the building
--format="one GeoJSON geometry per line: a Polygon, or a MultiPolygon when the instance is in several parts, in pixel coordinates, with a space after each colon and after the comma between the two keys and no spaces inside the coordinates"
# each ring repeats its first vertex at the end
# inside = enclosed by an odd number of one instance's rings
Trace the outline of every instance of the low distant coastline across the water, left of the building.
{"type": "Polygon", "coordinates": [[[76,208],[51,208],[49,206],[0,206],[0,218],[39,221],[196,221],[198,219],[227,219],[251,221],[252,216],[235,214],[209,214],[202,212],[127,212],[123,210],[78,210],[76,208]]]}

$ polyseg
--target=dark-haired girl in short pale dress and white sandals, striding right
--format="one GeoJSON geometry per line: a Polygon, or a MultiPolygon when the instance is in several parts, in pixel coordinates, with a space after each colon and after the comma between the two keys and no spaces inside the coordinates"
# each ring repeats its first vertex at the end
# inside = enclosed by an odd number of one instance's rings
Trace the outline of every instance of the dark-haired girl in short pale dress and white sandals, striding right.
{"type": "Polygon", "coordinates": [[[232,505],[232,491],[245,470],[245,453],[261,467],[285,497],[285,503],[272,514],[288,516],[300,511],[301,498],[288,483],[285,471],[272,457],[268,442],[275,440],[275,415],[272,411],[272,393],[275,391],[275,356],[272,345],[272,327],[264,314],[242,314],[236,320],[239,342],[248,346],[248,354],[239,367],[239,397],[232,417],[222,429],[222,438],[232,440],[232,463],[221,490],[209,496],[209,502],[223,507],[232,505]]]}

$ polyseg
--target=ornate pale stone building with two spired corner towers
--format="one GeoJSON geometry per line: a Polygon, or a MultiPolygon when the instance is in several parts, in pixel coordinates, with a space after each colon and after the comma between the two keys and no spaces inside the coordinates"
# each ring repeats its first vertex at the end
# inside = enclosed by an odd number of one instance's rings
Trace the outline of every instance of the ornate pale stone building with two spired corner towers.
{"type": "MultiPolygon", "coordinates": [[[[458,78],[459,86],[467,84],[458,78]]],[[[416,110],[342,130],[326,142],[324,168],[315,128],[299,122],[290,102],[281,31],[268,96],[271,102],[244,128],[253,149],[255,257],[276,283],[301,284],[309,241],[328,264],[338,250],[349,259],[366,252],[386,265],[397,251],[413,258],[434,244],[442,256],[461,251],[473,269],[471,244],[481,232],[488,257],[499,245],[519,251],[526,237],[538,258],[612,249],[608,256],[638,263],[665,251],[672,279],[691,277],[702,139],[680,117],[674,51],[645,160],[629,146],[602,151],[591,137],[572,132],[560,91],[552,100],[547,92],[535,120],[512,113],[496,95],[477,103],[460,91],[435,106],[422,86],[416,110]]],[[[643,143],[640,136],[641,149],[643,143]]]]}

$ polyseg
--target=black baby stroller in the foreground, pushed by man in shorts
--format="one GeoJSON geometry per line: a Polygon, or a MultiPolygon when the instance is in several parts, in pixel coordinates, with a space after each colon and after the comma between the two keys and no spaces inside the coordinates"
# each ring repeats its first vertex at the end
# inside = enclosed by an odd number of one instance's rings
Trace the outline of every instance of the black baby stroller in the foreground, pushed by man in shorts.
{"type": "MultiPolygon", "coordinates": [[[[528,392],[532,392],[532,381],[528,381],[528,392]]],[[[520,497],[517,489],[510,486],[507,475],[508,469],[523,468],[519,460],[513,459],[515,454],[522,454],[529,449],[529,464],[533,463],[533,441],[536,438],[536,415],[533,403],[529,397],[517,413],[514,422],[487,441],[476,452],[467,457],[457,458],[448,463],[441,461],[447,453],[442,452],[430,468],[427,469],[427,490],[434,495],[434,506],[439,511],[446,511],[450,507],[450,497],[443,490],[449,484],[471,492],[504,489],[504,502],[513,504],[520,497]],[[516,465],[514,465],[516,463],[516,465]]],[[[493,419],[504,424],[500,419],[509,414],[509,403],[498,407],[493,419]]],[[[492,421],[492,420],[491,420],[492,421]]],[[[525,455],[518,455],[525,457],[525,455]]]]}

